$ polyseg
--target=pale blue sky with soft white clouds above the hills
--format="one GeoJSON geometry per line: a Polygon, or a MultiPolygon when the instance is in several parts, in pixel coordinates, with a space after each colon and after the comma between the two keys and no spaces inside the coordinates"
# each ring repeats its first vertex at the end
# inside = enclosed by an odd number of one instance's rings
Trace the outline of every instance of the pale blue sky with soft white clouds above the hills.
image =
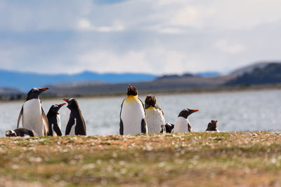
{"type": "Polygon", "coordinates": [[[281,60],[280,0],[0,1],[0,69],[228,73],[281,60]]]}

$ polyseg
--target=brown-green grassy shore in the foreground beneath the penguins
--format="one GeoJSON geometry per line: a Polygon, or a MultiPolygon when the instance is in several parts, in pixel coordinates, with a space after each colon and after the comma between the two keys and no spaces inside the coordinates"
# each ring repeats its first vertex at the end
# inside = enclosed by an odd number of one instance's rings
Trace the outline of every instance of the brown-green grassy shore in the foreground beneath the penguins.
{"type": "Polygon", "coordinates": [[[1,186],[280,186],[281,132],[0,138],[1,186]]]}

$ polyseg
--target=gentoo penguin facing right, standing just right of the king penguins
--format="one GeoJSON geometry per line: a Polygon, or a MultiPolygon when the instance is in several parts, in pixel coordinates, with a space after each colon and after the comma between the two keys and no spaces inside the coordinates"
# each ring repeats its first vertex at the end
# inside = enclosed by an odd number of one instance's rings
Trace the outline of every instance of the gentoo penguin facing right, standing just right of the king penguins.
{"type": "Polygon", "coordinates": [[[174,132],[192,132],[192,127],[188,120],[188,116],[190,116],[191,113],[196,112],[196,111],[198,111],[198,110],[183,109],[178,114],[178,118],[176,119],[174,132]]]}

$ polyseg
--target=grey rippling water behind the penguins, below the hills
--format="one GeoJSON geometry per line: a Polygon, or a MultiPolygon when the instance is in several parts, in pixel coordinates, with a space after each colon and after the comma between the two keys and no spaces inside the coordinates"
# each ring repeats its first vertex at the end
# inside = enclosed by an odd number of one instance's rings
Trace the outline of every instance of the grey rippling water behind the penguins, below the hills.
{"type": "MultiPolygon", "coordinates": [[[[210,120],[218,120],[222,132],[281,130],[281,90],[217,92],[181,95],[157,95],[166,123],[174,123],[178,113],[188,107],[190,123],[195,132],[206,130],[210,120]]],[[[119,113],[124,97],[77,99],[86,122],[87,134],[118,134],[119,113]]],[[[141,96],[145,99],[145,96],[141,96]]],[[[43,100],[45,113],[60,99],[43,100]]],[[[0,136],[15,129],[22,102],[0,102],[0,136]]],[[[62,131],[65,134],[66,109],[60,109],[62,131]]]]}

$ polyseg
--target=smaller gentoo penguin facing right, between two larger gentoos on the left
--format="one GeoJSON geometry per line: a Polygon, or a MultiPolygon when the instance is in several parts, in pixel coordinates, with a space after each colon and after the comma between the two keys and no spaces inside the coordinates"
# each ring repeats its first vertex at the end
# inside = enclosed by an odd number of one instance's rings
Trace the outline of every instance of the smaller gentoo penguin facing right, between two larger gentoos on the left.
{"type": "Polygon", "coordinates": [[[48,136],[61,136],[60,130],[60,113],[58,110],[60,107],[65,105],[63,104],[53,104],[51,108],[48,110],[47,118],[48,118],[48,136]]]}

